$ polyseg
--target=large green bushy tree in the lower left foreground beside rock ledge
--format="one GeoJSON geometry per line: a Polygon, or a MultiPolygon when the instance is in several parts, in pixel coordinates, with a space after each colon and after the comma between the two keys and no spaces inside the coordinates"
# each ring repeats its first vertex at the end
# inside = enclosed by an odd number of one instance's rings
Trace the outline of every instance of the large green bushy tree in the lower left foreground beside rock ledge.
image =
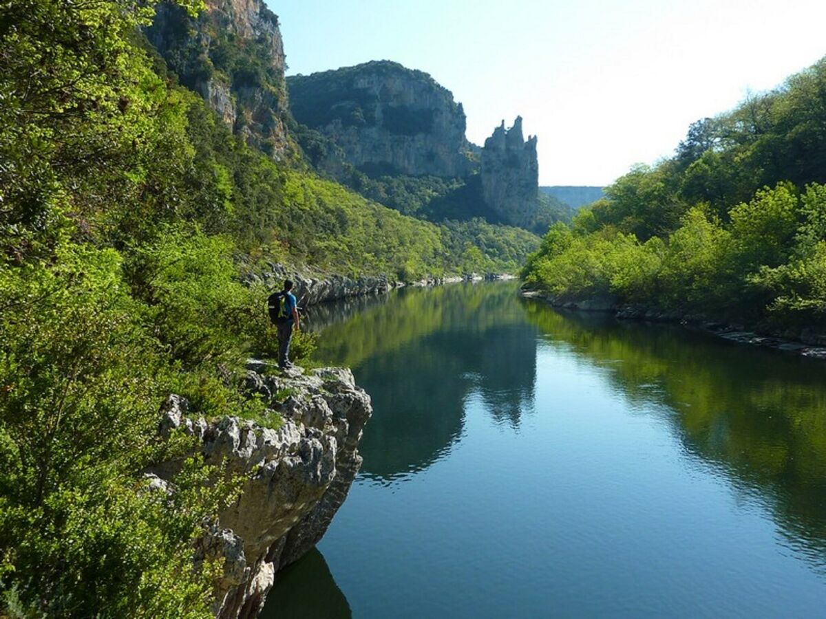
{"type": "Polygon", "coordinates": [[[26,616],[208,616],[192,541],[225,489],[202,463],[169,495],[136,474],[185,444],[157,437],[169,381],[120,262],[61,242],[0,267],[0,584],[26,616]]]}

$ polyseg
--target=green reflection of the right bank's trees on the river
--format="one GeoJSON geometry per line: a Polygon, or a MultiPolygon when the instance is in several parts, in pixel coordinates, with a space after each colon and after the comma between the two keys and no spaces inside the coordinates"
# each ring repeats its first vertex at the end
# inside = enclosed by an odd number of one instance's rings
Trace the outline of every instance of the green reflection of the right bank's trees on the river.
{"type": "MultiPolygon", "coordinates": [[[[826,366],[685,328],[559,314],[525,302],[553,342],[598,366],[631,401],[667,405],[688,451],[756,489],[803,555],[826,550],[826,366]],[[619,362],[618,362],[619,361],[619,362]]],[[[752,493],[753,494],[753,493],[752,493]]]]}

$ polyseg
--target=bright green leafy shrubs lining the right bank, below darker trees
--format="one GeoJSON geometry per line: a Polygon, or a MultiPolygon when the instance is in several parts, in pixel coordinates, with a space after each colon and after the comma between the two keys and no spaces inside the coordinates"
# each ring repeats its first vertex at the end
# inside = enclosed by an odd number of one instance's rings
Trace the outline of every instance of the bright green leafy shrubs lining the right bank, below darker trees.
{"type": "Polygon", "coordinates": [[[618,300],[778,324],[817,324],[826,309],[826,189],[797,196],[781,183],[730,211],[695,206],[666,239],[638,243],[604,227],[573,234],[556,224],[523,269],[529,284],[565,298],[618,300]]]}

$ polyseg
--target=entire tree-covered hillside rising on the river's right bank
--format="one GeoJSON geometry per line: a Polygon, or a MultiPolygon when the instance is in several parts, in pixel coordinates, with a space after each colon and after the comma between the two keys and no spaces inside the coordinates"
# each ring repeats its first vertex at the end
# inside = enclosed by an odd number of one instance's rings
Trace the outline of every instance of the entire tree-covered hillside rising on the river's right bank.
{"type": "Polygon", "coordinates": [[[523,276],[603,297],[800,334],[826,324],[826,59],[691,125],[556,224],[523,276]]]}

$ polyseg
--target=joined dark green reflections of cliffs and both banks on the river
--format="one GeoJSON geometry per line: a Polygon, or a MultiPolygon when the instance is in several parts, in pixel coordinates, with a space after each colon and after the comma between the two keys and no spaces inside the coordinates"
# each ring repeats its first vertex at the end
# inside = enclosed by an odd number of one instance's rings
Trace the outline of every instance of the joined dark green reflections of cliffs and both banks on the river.
{"type": "Polygon", "coordinates": [[[686,452],[767,506],[788,546],[826,551],[826,366],[686,328],[560,313],[516,286],[402,290],[321,305],[319,357],[354,368],[375,414],[363,474],[424,470],[460,440],[477,394],[506,428],[533,410],[540,340],[605,371],[630,404],[659,404],[686,452]]]}

